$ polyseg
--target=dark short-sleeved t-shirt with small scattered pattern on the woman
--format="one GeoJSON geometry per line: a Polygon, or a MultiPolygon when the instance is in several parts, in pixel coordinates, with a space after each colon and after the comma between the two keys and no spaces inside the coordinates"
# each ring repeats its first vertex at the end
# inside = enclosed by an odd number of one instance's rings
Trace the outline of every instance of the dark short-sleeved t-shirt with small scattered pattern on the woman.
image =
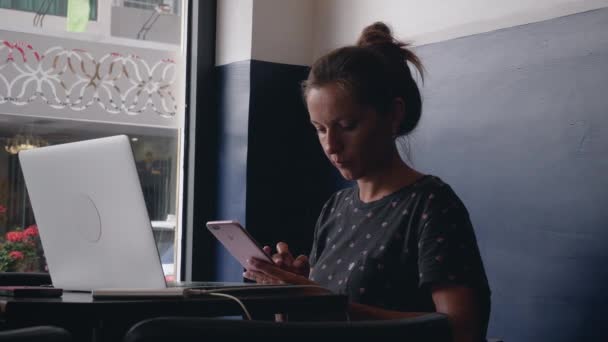
{"type": "Polygon", "coordinates": [[[435,176],[369,203],[361,202],[357,186],[332,195],[317,222],[310,263],[311,280],[389,310],[434,311],[430,285],[437,284],[465,284],[489,302],[467,209],[435,176]]]}

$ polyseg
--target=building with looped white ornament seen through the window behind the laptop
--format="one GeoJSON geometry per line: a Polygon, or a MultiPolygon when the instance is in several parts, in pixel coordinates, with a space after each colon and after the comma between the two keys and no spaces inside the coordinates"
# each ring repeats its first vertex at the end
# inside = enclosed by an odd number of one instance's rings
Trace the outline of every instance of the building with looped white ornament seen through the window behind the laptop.
{"type": "Polygon", "coordinates": [[[48,2],[43,24],[34,25],[46,0],[0,0],[0,271],[46,270],[43,249],[28,242],[37,239],[36,221],[17,153],[126,134],[165,275],[173,278],[187,5],[90,0],[86,30],[66,32],[67,1],[48,2]]]}

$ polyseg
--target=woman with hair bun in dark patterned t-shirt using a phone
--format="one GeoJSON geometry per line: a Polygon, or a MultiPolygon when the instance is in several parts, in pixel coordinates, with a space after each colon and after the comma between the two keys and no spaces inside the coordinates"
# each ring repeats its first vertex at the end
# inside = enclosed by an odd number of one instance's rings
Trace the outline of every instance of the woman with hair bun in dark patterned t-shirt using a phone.
{"type": "Polygon", "coordinates": [[[274,265],[251,260],[244,276],[347,294],[355,319],[445,313],[455,341],[481,341],[490,291],[468,212],[441,179],[407,165],[395,144],[421,116],[408,62],[422,75],[418,57],[375,23],[356,46],[313,64],[303,84],[310,121],[329,160],[356,185],[323,207],[310,263],[280,242],[274,265]]]}

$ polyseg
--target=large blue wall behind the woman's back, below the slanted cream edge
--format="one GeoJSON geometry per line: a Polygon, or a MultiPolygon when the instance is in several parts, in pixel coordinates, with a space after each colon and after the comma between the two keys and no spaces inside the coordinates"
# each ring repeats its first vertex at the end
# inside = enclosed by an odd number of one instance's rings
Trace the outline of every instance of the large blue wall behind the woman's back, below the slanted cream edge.
{"type": "Polygon", "coordinates": [[[608,9],[417,49],[416,167],[469,208],[491,336],[607,341],[608,9]]]}

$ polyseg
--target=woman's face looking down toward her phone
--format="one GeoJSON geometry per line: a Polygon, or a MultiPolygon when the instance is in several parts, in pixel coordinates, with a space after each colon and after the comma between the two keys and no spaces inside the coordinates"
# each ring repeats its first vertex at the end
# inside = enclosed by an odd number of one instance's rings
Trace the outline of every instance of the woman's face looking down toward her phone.
{"type": "Polygon", "coordinates": [[[395,147],[388,116],[361,106],[338,84],[310,89],[306,103],[325,155],[345,179],[372,176],[391,160],[395,147]]]}

